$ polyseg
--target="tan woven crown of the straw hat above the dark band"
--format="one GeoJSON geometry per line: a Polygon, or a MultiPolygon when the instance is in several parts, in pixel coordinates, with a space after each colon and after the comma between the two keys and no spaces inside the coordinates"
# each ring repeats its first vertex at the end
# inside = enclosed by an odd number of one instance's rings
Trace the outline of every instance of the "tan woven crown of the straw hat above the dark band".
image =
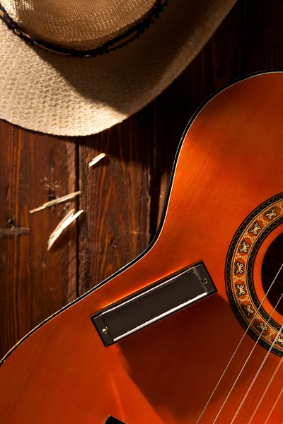
{"type": "Polygon", "coordinates": [[[1,0],[21,30],[53,45],[87,50],[122,35],[155,0],[1,0]]]}

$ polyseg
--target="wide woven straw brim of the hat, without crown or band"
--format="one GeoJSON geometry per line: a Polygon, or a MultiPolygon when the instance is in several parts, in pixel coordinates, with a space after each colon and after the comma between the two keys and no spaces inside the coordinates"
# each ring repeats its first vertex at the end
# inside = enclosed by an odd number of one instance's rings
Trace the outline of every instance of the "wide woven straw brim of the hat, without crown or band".
{"type": "Polygon", "coordinates": [[[93,58],[29,45],[0,23],[0,119],[62,136],[96,134],[160,94],[236,0],[169,0],[144,33],[93,58]]]}

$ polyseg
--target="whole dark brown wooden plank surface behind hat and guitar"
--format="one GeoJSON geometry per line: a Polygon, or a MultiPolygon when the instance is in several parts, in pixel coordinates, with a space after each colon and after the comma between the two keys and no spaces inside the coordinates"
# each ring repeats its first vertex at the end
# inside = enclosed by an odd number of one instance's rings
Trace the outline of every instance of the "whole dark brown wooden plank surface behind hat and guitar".
{"type": "Polygon", "coordinates": [[[183,74],[122,124],[67,139],[0,122],[0,356],[146,248],[192,113],[218,88],[266,69],[283,69],[283,1],[239,0],[183,74]],[[101,152],[107,159],[88,170],[101,152]],[[76,201],[28,213],[77,189],[76,201]],[[85,213],[47,252],[72,206],[85,213]]]}

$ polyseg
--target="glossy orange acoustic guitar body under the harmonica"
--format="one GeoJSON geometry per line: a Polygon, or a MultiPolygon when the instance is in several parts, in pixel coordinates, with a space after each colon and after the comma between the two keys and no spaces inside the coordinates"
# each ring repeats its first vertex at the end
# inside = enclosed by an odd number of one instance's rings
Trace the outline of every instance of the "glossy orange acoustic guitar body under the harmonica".
{"type": "Polygon", "coordinates": [[[262,283],[283,232],[282,98],[283,73],[261,73],[197,112],[156,240],[6,355],[1,423],[282,424],[283,317],[262,283]],[[216,293],[104,346],[93,314],[200,261],[216,293]]]}

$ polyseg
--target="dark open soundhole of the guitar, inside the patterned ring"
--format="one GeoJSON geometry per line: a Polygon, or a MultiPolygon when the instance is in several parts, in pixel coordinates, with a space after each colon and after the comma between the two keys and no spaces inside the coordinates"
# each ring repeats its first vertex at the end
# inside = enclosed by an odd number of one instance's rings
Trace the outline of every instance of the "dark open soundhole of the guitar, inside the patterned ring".
{"type": "MultiPolygon", "coordinates": [[[[262,262],[262,286],[267,293],[267,290],[272,285],[277,272],[283,263],[283,233],[277,237],[270,247],[267,249],[265,258],[262,262]]],[[[267,299],[272,307],[275,307],[280,296],[283,293],[283,271],[279,273],[275,283],[272,285],[270,292],[267,294],[267,299]]],[[[279,302],[276,308],[277,312],[283,316],[283,300],[279,302]]]]}

